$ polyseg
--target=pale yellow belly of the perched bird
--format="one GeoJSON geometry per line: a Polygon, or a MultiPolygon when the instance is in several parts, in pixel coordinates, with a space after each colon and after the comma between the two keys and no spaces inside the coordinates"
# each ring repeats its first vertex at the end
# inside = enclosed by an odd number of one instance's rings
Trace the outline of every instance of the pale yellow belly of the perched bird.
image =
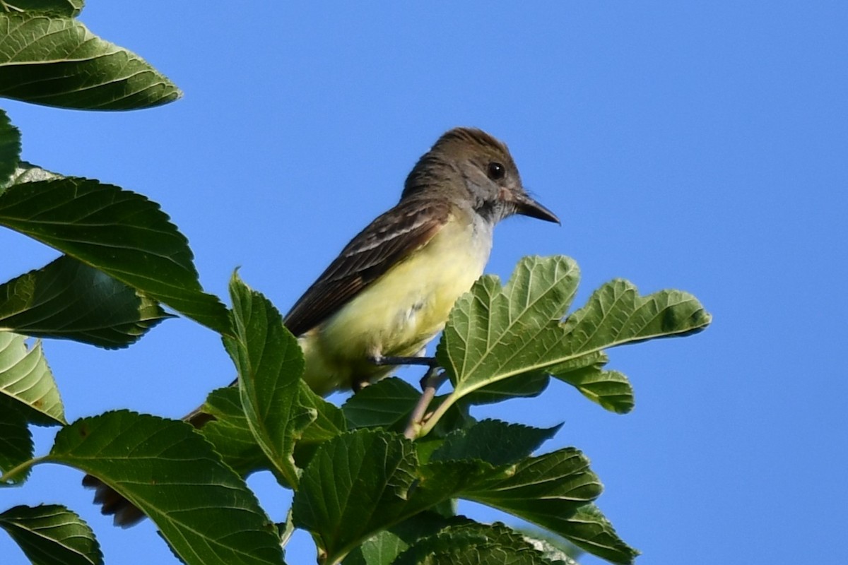
{"type": "Polygon", "coordinates": [[[389,269],[338,313],[300,336],[304,379],[319,394],[381,379],[372,357],[410,357],[444,328],[450,308],[483,274],[491,230],[453,219],[427,245],[389,269]]]}

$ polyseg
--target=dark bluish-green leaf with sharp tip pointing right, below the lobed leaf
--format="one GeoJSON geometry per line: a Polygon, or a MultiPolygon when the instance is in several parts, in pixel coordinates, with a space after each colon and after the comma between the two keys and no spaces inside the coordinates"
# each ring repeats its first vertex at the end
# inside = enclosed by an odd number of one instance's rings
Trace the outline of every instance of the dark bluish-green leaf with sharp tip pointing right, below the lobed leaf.
{"type": "Polygon", "coordinates": [[[430,461],[479,459],[494,466],[511,465],[538,449],[560,428],[561,424],[542,429],[500,420],[483,420],[469,429],[458,429],[448,435],[444,443],[432,452],[430,461]]]}

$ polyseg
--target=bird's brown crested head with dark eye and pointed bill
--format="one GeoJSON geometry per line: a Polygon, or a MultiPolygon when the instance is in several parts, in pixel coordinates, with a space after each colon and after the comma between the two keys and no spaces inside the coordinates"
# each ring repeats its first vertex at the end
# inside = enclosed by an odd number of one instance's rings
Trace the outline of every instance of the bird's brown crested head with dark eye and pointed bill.
{"type": "Polygon", "coordinates": [[[560,222],[524,190],[505,144],[475,128],[455,128],[439,137],[407,177],[402,198],[437,193],[469,202],[493,223],[515,213],[560,222]]]}

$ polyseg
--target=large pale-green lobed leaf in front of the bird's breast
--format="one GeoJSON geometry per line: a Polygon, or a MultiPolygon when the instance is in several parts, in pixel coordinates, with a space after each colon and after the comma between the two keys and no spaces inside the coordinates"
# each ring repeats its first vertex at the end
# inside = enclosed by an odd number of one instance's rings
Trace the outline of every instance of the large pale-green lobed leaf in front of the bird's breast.
{"type": "MultiPolygon", "coordinates": [[[[577,265],[570,258],[523,258],[505,287],[494,277],[483,277],[461,296],[436,350],[454,392],[421,435],[454,402],[499,381],[553,373],[569,382],[569,371],[605,363],[607,347],[690,335],[711,321],[695,296],[686,292],[639,296],[626,280],[613,280],[561,322],[577,280],[577,265]]],[[[632,391],[622,374],[599,368],[572,377],[583,394],[602,406],[616,412],[632,407],[632,391]]]]}

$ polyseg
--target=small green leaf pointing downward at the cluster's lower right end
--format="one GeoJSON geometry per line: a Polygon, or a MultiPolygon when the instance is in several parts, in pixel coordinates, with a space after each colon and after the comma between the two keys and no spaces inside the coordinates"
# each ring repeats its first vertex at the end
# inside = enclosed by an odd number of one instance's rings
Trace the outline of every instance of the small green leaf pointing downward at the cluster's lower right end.
{"type": "Polygon", "coordinates": [[[563,524],[562,534],[575,546],[613,563],[632,563],[639,551],[618,537],[612,524],[594,504],[585,504],[563,524]]]}

